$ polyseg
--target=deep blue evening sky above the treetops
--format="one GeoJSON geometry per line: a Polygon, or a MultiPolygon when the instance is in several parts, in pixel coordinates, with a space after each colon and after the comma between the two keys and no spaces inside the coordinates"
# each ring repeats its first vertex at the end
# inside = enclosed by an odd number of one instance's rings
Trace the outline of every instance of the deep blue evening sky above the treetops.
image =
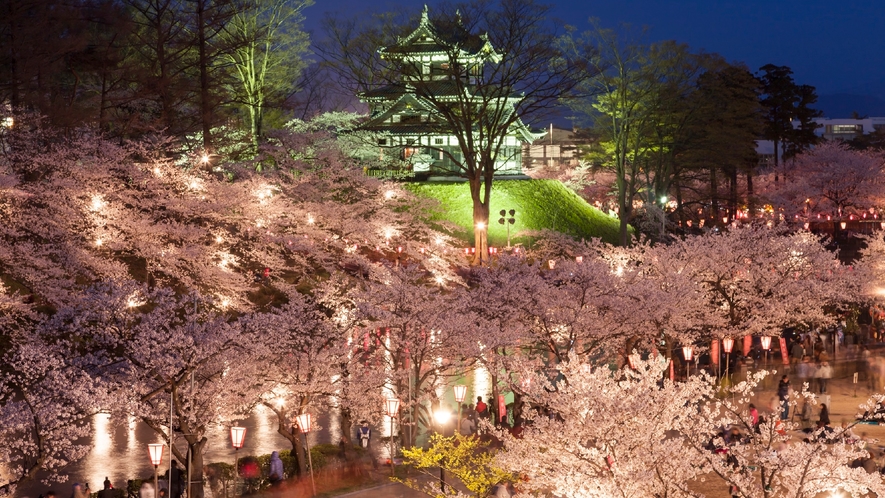
{"type": "MultiPolygon", "coordinates": [[[[407,8],[422,0],[316,0],[305,12],[308,29],[325,12],[352,15],[367,8],[407,8]]],[[[427,2],[431,5],[433,1],[427,2]]],[[[556,14],[586,27],[593,16],[607,27],[652,28],[653,40],[675,39],[717,52],[755,70],[790,66],[798,83],[818,94],[856,93],[885,98],[883,0],[558,0],[556,14]]]]}

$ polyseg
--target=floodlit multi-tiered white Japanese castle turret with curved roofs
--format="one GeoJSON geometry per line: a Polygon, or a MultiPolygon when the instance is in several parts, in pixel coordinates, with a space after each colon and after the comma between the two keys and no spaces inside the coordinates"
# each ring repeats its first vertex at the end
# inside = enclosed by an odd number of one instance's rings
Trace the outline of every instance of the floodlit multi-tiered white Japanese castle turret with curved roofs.
{"type": "MultiPolygon", "coordinates": [[[[371,110],[369,120],[360,128],[378,133],[380,154],[399,154],[417,174],[457,176],[458,162],[463,158],[459,134],[464,138],[472,133],[472,140],[482,140],[482,133],[476,126],[472,131],[464,130],[463,123],[452,126],[439,109],[470,102],[476,96],[476,82],[482,71],[499,62],[501,54],[486,35],[470,34],[460,18],[450,25],[435,25],[426,6],[418,28],[399,38],[396,45],[381,48],[379,54],[398,69],[399,80],[360,94],[371,110]]],[[[483,97],[476,100],[483,101],[483,97]]],[[[494,105],[502,107],[483,114],[499,117],[483,119],[513,117],[516,100],[509,96],[497,99],[494,105]]],[[[488,102],[486,98],[487,108],[488,102]]],[[[515,119],[495,158],[496,175],[521,174],[522,145],[543,135],[532,133],[515,119]]]]}

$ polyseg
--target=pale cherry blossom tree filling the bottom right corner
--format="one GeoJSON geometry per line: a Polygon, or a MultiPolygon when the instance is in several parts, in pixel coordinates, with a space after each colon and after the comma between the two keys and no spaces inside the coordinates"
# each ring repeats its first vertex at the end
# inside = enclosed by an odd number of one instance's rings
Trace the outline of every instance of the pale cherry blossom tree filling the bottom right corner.
{"type": "MultiPolygon", "coordinates": [[[[850,436],[850,426],[818,429],[810,435],[797,435],[797,424],[789,421],[760,421],[754,426],[745,404],[767,374],[758,372],[735,386],[736,398],[717,399],[707,393],[693,405],[696,409],[687,410],[691,430],[682,432],[682,437],[695,450],[694,458],[703,460],[704,471],[729,485],[732,496],[746,498],[813,497],[836,491],[865,495],[885,490],[877,473],[852,468],[853,462],[871,456],[864,441],[850,436]],[[732,436],[726,443],[723,427],[732,427],[741,436],[732,436]]],[[[795,406],[801,398],[814,403],[806,391],[793,393],[788,403],[795,406]]],[[[860,409],[872,413],[881,401],[882,396],[876,395],[860,409]]]]}

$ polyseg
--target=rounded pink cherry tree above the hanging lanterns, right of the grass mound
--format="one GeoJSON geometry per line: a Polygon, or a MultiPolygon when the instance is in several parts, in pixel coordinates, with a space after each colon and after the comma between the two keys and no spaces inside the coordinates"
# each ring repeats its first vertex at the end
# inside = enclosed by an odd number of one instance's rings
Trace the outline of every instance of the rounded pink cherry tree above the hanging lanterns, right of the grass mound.
{"type": "Polygon", "coordinates": [[[702,286],[722,335],[777,336],[788,326],[829,324],[826,307],[864,298],[863,275],[808,232],[734,226],[686,238],[668,254],[667,264],[702,286]]]}

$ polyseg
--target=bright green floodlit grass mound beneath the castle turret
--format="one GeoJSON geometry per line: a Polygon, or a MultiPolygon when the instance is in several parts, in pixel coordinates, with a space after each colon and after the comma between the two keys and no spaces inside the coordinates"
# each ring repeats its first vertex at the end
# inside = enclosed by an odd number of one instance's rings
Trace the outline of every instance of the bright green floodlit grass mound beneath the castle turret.
{"type": "MultiPolygon", "coordinates": [[[[466,182],[409,183],[405,187],[418,195],[437,199],[441,210],[432,220],[455,223],[462,230],[452,235],[468,243],[473,240],[473,204],[466,182]]],[[[618,242],[618,220],[587,204],[557,180],[495,180],[489,220],[489,245],[492,246],[507,244],[507,229],[498,223],[502,209],[516,210],[516,223],[510,226],[513,242],[531,243],[513,234],[543,229],[576,238],[599,237],[612,244],[618,242]]]]}

